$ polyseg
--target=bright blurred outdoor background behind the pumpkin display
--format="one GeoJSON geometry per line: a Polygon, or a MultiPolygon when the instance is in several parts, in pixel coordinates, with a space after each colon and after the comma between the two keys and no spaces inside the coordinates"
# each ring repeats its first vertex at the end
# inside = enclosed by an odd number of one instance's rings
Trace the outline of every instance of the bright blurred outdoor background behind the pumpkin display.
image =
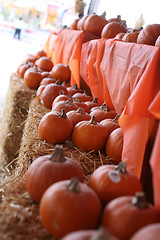
{"type": "Polygon", "coordinates": [[[106,18],[121,15],[128,27],[159,23],[159,0],[0,0],[0,114],[5,101],[10,75],[28,54],[43,48],[50,32],[78,16],[102,14],[106,18]],[[14,38],[17,19],[21,18],[21,38],[14,38]]]}

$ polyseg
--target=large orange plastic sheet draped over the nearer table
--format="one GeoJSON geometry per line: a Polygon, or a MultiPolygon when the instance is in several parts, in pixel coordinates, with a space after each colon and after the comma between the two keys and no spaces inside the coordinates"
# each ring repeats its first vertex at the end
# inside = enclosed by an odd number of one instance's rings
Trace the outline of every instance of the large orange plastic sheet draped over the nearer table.
{"type": "MultiPolygon", "coordinates": [[[[140,178],[146,144],[160,114],[160,50],[100,39],[83,44],[81,54],[80,73],[93,96],[121,114],[122,161],[140,178]]],[[[153,169],[156,170],[156,165],[153,169]]],[[[160,197],[160,190],[158,194],[160,197]]]]}

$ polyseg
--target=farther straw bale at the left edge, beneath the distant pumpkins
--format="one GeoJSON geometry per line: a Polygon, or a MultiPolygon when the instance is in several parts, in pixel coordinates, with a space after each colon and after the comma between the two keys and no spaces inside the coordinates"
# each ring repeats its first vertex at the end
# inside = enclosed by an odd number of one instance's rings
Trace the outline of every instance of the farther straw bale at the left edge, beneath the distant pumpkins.
{"type": "Polygon", "coordinates": [[[25,87],[23,79],[18,74],[11,75],[0,126],[1,165],[10,163],[18,156],[24,121],[35,94],[35,90],[25,87]]]}

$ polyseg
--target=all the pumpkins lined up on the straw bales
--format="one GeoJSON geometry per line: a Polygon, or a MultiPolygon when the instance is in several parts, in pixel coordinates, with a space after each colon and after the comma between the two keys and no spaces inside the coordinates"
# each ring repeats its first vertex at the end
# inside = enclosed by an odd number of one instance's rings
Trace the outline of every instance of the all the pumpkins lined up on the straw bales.
{"type": "Polygon", "coordinates": [[[70,86],[69,67],[53,65],[43,50],[28,55],[17,73],[26,87],[36,89],[39,103],[50,109],[38,132],[55,145],[54,151],[31,163],[25,181],[48,232],[62,240],[157,239],[160,213],[121,161],[123,132],[115,110],[76,84],[70,86]],[[65,156],[66,140],[86,152],[105,151],[114,164],[98,167],[85,182],[78,162],[65,156]]]}

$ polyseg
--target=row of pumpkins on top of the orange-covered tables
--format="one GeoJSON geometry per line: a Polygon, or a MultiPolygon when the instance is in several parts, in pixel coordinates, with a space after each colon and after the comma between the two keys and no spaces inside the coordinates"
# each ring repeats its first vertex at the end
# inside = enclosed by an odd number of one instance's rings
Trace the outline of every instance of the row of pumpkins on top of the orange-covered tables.
{"type": "Polygon", "coordinates": [[[83,30],[100,38],[115,38],[124,42],[134,42],[160,47],[160,24],[148,24],[144,28],[128,28],[126,21],[118,15],[116,18],[106,19],[105,14],[85,15],[75,19],[72,30],[83,30]]]}

